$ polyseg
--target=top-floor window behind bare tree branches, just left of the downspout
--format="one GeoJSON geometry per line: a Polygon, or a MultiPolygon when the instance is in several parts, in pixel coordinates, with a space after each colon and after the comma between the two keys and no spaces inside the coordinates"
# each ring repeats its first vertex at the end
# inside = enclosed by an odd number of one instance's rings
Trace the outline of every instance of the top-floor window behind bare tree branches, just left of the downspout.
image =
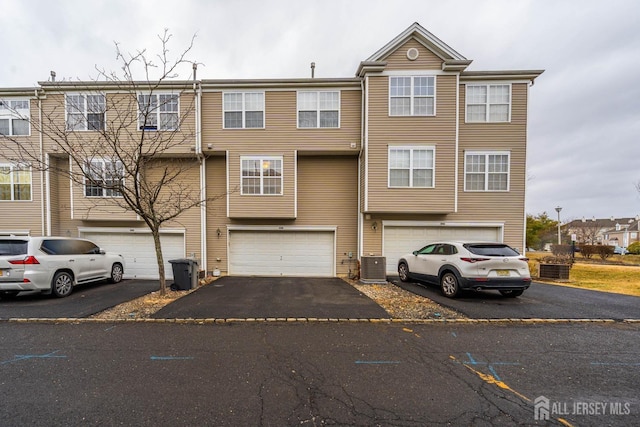
{"type": "Polygon", "coordinates": [[[138,129],[177,130],[180,126],[178,98],[173,93],[138,94],[138,129]]]}

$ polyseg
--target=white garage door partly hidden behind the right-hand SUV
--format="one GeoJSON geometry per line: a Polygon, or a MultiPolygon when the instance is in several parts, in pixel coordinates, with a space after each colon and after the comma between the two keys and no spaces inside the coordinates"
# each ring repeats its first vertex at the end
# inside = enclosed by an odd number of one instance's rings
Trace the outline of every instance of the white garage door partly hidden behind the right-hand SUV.
{"type": "Polygon", "coordinates": [[[402,255],[438,240],[501,242],[502,231],[500,227],[385,225],[383,254],[387,257],[387,274],[397,273],[398,260],[402,255]]]}

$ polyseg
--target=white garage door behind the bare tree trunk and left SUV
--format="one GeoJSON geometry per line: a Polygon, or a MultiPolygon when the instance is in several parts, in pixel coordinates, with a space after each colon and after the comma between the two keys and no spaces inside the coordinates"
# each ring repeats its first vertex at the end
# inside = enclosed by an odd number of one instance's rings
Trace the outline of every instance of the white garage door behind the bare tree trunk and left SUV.
{"type": "MultiPolygon", "coordinates": [[[[107,252],[124,256],[126,279],[158,279],[156,249],[150,233],[86,231],[82,233],[82,237],[94,241],[107,252]]],[[[169,260],[184,258],[184,234],[163,233],[160,235],[160,243],[165,277],[173,279],[169,260]]]]}

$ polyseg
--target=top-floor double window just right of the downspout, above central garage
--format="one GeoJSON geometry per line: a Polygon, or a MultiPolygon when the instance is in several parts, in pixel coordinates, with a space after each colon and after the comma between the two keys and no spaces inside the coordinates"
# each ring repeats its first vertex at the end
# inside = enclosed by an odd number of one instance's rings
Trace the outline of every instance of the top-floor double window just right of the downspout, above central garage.
{"type": "Polygon", "coordinates": [[[223,94],[224,128],[264,128],[263,92],[227,92],[223,94]]]}

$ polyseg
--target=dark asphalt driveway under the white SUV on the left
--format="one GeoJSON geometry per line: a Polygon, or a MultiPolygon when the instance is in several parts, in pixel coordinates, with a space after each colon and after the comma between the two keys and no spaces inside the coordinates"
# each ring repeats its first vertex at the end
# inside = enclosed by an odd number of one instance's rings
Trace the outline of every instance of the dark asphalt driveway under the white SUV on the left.
{"type": "Polygon", "coordinates": [[[123,302],[158,290],[156,280],[123,280],[76,286],[66,298],[37,292],[22,292],[14,299],[0,300],[0,319],[88,317],[123,302]]]}

